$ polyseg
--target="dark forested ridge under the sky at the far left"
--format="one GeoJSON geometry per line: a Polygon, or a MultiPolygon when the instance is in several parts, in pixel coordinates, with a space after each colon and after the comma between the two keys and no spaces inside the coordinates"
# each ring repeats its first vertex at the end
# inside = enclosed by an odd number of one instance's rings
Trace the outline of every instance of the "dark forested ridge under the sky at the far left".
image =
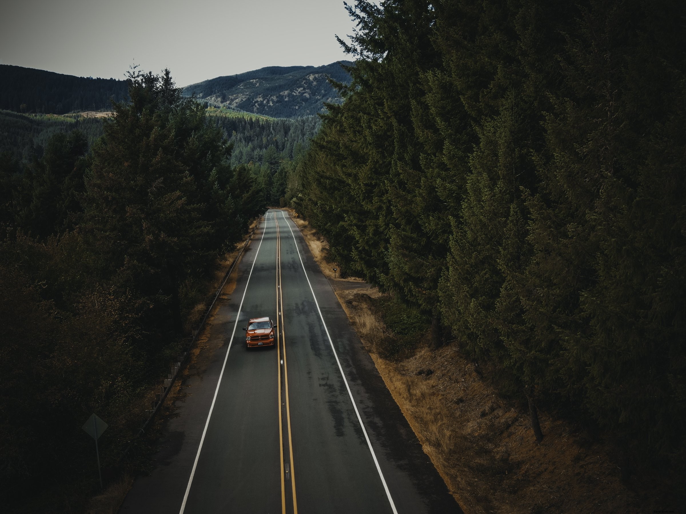
{"type": "Polygon", "coordinates": [[[0,64],[0,109],[65,114],[109,110],[110,99],[126,99],[125,80],[74,77],[51,71],[0,64]]]}

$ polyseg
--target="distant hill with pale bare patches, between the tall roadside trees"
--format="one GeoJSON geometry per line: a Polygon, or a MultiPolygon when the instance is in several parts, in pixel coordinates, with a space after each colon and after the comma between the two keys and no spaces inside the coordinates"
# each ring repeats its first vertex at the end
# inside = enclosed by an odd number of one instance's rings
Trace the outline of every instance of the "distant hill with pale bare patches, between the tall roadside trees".
{"type": "Polygon", "coordinates": [[[311,116],[324,111],[324,102],[340,102],[327,76],[345,84],[350,82],[338,62],[318,67],[268,66],[191,84],[183,88],[183,94],[196,95],[213,106],[275,118],[311,116]]]}

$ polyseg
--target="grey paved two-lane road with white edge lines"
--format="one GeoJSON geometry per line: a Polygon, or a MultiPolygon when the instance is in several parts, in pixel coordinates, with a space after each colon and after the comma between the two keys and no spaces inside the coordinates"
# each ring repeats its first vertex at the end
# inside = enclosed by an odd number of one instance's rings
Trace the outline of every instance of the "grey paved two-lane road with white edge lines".
{"type": "Polygon", "coordinates": [[[238,273],[220,350],[120,512],[460,513],[285,212],[267,212],[238,273]],[[248,351],[261,316],[279,345],[248,351]]]}

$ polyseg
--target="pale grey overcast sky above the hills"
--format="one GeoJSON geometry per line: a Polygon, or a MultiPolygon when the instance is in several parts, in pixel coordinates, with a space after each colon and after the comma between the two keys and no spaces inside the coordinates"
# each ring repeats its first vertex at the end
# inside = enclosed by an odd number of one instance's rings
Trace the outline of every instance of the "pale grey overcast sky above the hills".
{"type": "Polygon", "coordinates": [[[0,12],[0,64],[122,79],[135,63],[178,86],[346,59],[334,34],[353,32],[343,0],[0,0],[0,12]]]}

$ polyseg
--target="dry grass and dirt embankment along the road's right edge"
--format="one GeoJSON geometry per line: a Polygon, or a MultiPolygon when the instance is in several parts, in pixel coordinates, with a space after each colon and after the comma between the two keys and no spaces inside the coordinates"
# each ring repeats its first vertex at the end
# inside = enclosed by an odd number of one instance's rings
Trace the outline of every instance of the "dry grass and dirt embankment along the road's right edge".
{"type": "MultiPolygon", "coordinates": [[[[292,213],[294,214],[294,213],[292,213]]],[[[613,448],[573,424],[540,412],[536,443],[528,411],[501,398],[457,345],[420,347],[399,362],[381,358],[379,334],[393,336],[373,308],[377,289],[333,279],[326,241],[293,217],[322,272],[374,359],[424,451],[466,514],[680,512],[657,478],[622,482],[613,448]],[[633,487],[635,482],[640,485],[633,487]]],[[[354,282],[354,283],[353,283],[354,282]]]]}

